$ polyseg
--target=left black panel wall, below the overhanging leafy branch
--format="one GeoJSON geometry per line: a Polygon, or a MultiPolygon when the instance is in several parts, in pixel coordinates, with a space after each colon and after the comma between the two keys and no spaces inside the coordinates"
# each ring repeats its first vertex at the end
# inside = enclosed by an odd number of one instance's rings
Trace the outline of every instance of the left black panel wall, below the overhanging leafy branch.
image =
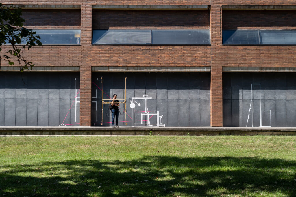
{"type": "Polygon", "coordinates": [[[0,126],[79,126],[79,89],[79,72],[0,72],[0,126]]]}

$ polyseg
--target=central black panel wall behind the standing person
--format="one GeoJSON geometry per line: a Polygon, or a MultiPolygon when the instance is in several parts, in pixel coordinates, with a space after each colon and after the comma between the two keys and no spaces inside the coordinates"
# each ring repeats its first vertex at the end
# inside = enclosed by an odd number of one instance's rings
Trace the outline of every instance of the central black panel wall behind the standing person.
{"type": "MultiPolygon", "coordinates": [[[[124,104],[120,104],[122,109],[119,109],[119,126],[132,126],[132,97],[143,95],[152,97],[147,100],[147,108],[149,111],[159,111],[159,115],[163,115],[165,126],[210,126],[210,73],[207,72],[93,72],[92,126],[101,126],[101,77],[104,99],[112,98],[115,93],[118,98],[124,98],[124,78],[127,77],[127,125],[123,112],[124,104]]],[[[141,113],[145,111],[144,102],[140,103],[140,106],[135,103],[136,121],[141,120],[141,113]]],[[[103,126],[111,126],[112,115],[108,104],[104,104],[103,110],[103,126]]],[[[151,117],[150,123],[157,121],[156,118],[156,115],[151,117]]]]}

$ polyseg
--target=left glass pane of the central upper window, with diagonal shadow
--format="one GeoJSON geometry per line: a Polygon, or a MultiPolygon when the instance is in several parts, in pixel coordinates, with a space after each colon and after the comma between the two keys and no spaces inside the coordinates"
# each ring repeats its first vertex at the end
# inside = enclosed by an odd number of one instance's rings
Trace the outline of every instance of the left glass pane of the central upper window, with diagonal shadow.
{"type": "Polygon", "coordinates": [[[93,44],[151,44],[151,30],[93,30],[93,44]]]}

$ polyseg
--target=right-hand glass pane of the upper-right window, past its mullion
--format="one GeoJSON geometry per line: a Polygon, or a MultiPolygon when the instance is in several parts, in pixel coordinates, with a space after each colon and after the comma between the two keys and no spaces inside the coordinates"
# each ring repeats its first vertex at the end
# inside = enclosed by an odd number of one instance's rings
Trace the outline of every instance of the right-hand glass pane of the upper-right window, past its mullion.
{"type": "Polygon", "coordinates": [[[263,45],[296,45],[296,30],[259,30],[263,45]]]}

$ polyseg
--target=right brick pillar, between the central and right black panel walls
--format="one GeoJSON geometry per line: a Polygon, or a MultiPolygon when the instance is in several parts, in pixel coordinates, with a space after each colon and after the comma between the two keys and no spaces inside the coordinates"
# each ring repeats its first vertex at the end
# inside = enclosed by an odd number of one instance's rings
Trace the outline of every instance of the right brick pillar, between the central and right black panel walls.
{"type": "Polygon", "coordinates": [[[222,126],[222,65],[219,62],[222,45],[222,6],[211,6],[211,126],[222,126]]]}

